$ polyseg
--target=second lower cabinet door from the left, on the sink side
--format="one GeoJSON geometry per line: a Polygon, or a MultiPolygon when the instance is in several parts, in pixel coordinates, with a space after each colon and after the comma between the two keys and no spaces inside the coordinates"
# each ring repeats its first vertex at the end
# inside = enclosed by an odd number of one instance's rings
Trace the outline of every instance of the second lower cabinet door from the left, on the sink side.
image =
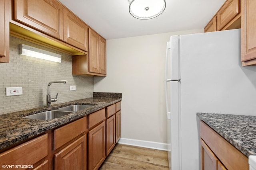
{"type": "Polygon", "coordinates": [[[97,170],[106,158],[105,121],[88,132],[88,170],[97,170]]]}

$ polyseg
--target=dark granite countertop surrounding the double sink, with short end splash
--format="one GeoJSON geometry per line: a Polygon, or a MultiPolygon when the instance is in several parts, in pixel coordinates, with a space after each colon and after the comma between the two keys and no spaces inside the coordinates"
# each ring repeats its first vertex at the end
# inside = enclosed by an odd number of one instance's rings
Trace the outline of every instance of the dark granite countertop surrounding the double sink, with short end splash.
{"type": "Polygon", "coordinates": [[[0,115],[0,150],[44,133],[50,129],[64,125],[65,123],[80,117],[84,117],[87,114],[93,113],[122,100],[122,93],[94,93],[93,96],[93,98],[55,104],[52,105],[52,107],[38,107],[35,109],[0,115]],[[68,115],[52,120],[34,120],[22,118],[27,115],[32,115],[48,110],[55,110],[60,107],[74,104],[88,104],[92,105],[92,107],[88,107],[76,113],[70,113],[68,115]]]}

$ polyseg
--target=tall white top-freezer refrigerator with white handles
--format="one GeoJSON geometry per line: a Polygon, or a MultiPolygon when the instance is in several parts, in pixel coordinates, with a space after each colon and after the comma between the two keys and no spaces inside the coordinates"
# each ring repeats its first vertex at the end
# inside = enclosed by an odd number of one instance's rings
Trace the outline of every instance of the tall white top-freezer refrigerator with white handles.
{"type": "Polygon", "coordinates": [[[199,170],[197,112],[256,115],[256,66],[240,62],[240,29],[171,36],[165,89],[170,168],[199,170]]]}

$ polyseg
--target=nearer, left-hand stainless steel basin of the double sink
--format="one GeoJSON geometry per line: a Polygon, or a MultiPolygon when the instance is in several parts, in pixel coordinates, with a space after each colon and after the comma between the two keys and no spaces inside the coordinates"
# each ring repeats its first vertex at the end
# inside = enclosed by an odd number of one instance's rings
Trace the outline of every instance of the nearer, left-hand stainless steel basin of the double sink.
{"type": "Polygon", "coordinates": [[[74,112],[51,110],[51,111],[44,111],[42,113],[37,113],[37,114],[34,114],[34,115],[25,116],[23,118],[38,119],[38,120],[51,120],[51,119],[62,117],[64,115],[68,115],[70,113],[74,113],[74,112]]]}

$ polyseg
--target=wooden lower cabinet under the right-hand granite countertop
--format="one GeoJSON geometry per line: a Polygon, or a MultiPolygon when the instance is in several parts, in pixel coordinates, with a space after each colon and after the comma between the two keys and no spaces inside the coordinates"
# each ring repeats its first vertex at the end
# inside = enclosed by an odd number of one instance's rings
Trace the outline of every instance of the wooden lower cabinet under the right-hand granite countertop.
{"type": "Polygon", "coordinates": [[[202,170],[249,170],[248,157],[200,121],[202,170]]]}

